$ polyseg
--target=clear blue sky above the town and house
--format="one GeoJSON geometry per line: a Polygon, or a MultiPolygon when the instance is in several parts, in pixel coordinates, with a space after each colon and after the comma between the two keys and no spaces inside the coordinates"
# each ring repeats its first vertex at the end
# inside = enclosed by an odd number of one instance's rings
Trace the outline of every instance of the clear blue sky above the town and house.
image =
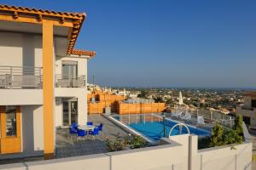
{"type": "Polygon", "coordinates": [[[89,81],[126,87],[256,88],[256,1],[2,1],[85,12],[76,48],[89,81]]]}

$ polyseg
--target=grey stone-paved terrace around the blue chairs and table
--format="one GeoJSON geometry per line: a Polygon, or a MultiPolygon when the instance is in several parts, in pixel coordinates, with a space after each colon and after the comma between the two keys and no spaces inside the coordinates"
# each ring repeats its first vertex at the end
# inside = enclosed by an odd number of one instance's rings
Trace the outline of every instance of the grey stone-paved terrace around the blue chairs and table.
{"type": "Polygon", "coordinates": [[[88,122],[93,122],[95,125],[99,125],[102,122],[103,134],[95,140],[88,137],[85,138],[85,140],[80,139],[77,141],[76,138],[68,138],[68,128],[57,129],[55,146],[56,158],[106,153],[108,152],[108,148],[105,144],[106,137],[113,140],[118,135],[125,136],[127,134],[124,130],[101,115],[88,116],[88,122]]]}

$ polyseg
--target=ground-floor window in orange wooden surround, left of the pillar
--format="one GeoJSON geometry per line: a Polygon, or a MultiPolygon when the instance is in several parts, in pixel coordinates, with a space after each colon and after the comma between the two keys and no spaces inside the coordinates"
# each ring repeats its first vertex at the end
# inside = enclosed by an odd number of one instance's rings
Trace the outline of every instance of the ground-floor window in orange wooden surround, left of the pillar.
{"type": "Polygon", "coordinates": [[[6,136],[16,136],[16,106],[6,106],[6,136]]]}

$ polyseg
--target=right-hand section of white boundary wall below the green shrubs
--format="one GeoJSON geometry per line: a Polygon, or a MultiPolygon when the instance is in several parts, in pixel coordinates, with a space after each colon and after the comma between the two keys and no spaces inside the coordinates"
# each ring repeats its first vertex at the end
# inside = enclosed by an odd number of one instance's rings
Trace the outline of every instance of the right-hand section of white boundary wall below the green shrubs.
{"type": "Polygon", "coordinates": [[[243,124],[243,132],[245,141],[242,144],[229,144],[203,150],[197,150],[198,136],[191,135],[189,137],[189,169],[252,169],[253,144],[245,124],[243,124]]]}

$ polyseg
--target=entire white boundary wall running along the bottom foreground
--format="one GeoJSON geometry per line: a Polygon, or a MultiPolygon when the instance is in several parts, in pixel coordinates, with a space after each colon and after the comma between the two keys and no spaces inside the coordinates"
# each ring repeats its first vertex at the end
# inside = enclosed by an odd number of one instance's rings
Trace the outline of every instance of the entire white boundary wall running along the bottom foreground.
{"type": "Polygon", "coordinates": [[[244,126],[245,142],[197,149],[197,136],[183,134],[161,139],[160,145],[91,156],[2,165],[6,170],[251,170],[252,143],[244,126]]]}

